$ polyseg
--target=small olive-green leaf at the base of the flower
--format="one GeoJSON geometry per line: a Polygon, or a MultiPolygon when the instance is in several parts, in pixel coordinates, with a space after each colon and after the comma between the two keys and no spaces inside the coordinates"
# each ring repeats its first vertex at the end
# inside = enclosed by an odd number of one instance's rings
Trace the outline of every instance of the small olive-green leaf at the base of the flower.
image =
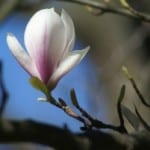
{"type": "Polygon", "coordinates": [[[49,94],[48,87],[37,77],[31,77],[30,78],[30,84],[37,90],[44,93],[46,96],[49,94]]]}

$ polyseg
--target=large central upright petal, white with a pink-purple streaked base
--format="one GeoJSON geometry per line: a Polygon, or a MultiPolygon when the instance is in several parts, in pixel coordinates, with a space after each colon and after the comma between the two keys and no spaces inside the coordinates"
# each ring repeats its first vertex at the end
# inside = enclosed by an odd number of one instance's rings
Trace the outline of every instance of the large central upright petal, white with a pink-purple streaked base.
{"type": "Polygon", "coordinates": [[[25,45],[44,83],[60,61],[66,44],[64,36],[64,24],[53,8],[38,11],[27,24],[25,45]]]}

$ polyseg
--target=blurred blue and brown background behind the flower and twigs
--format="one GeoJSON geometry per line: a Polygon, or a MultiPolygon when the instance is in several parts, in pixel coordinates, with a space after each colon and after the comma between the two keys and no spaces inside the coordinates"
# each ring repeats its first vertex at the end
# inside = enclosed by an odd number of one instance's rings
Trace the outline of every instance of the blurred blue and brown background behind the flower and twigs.
{"type": "MultiPolygon", "coordinates": [[[[97,0],[121,7],[119,0],[97,0]]],[[[129,0],[131,6],[150,13],[149,0],[129,0]]],[[[88,56],[68,73],[54,90],[55,98],[62,97],[73,108],[69,92],[74,88],[80,105],[94,117],[118,125],[116,100],[122,84],[127,91],[124,105],[133,110],[137,106],[149,121],[149,111],[141,105],[130,82],[121,71],[126,65],[143,95],[149,98],[150,89],[150,24],[116,14],[96,15],[99,10],[73,3],[48,0],[0,1],[0,60],[3,62],[4,83],[9,93],[3,117],[33,119],[79,131],[80,123],[61,110],[36,99],[42,94],[33,89],[29,76],[11,55],[6,35],[11,32],[23,44],[24,29],[33,13],[41,8],[65,9],[72,17],[76,30],[75,49],[91,46],[88,56]],[[8,11],[9,10],[9,11],[8,11]],[[5,12],[6,11],[6,12],[5,12]],[[5,14],[5,15],[3,15],[5,14]]],[[[23,44],[24,45],[24,44],[23,44]]],[[[132,128],[126,123],[132,132],[132,128]]],[[[1,145],[4,149],[48,149],[32,144],[1,145]]]]}

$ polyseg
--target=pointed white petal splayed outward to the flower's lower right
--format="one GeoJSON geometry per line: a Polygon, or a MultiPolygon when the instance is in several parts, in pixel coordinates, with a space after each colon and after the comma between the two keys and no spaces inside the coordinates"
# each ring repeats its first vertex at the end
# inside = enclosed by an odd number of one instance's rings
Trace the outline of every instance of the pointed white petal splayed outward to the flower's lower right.
{"type": "Polygon", "coordinates": [[[70,53],[63,62],[60,63],[52,77],[48,81],[48,87],[54,88],[57,82],[60,80],[62,76],[68,73],[73,67],[75,67],[87,54],[90,47],[86,47],[83,50],[76,50],[70,53]]]}

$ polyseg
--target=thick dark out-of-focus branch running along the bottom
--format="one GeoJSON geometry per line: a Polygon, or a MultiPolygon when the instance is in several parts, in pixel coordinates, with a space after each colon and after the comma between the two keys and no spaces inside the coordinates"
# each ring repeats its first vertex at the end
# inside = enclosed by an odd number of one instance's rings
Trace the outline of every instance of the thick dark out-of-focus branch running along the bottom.
{"type": "Polygon", "coordinates": [[[150,148],[148,134],[124,135],[104,133],[98,130],[73,134],[66,129],[38,123],[32,120],[0,120],[0,143],[32,142],[61,150],[129,149],[142,150],[143,142],[150,148]],[[137,148],[138,146],[138,148],[137,148]]]}

